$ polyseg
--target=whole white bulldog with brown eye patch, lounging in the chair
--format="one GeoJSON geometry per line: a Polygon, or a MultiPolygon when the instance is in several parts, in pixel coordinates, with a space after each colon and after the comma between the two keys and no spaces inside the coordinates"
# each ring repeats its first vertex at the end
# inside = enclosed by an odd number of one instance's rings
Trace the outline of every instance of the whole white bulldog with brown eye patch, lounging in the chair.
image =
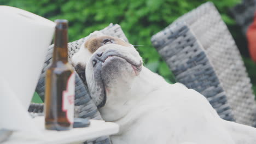
{"type": "Polygon", "coordinates": [[[167,83],[124,40],[96,31],[72,63],[103,119],[120,125],[114,144],[256,143],[255,128],[223,120],[200,93],[167,83]]]}

